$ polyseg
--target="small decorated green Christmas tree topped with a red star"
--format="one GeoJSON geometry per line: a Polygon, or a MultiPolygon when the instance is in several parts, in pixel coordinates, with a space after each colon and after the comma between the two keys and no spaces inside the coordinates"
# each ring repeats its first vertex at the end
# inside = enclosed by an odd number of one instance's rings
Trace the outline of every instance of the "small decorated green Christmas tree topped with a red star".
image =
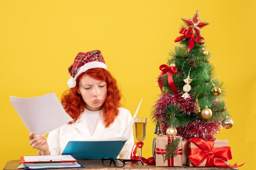
{"type": "Polygon", "coordinates": [[[199,20],[198,11],[191,19],[183,19],[184,26],[169,53],[167,65],[161,65],[158,85],[162,91],[155,102],[151,118],[157,124],[157,133],[172,133],[183,140],[192,137],[216,139],[220,128],[233,125],[223,100],[223,83],[213,77],[214,67],[209,63],[210,52],[204,50],[201,28],[208,22],[199,20]],[[159,132],[161,131],[161,132],[159,132]]]}

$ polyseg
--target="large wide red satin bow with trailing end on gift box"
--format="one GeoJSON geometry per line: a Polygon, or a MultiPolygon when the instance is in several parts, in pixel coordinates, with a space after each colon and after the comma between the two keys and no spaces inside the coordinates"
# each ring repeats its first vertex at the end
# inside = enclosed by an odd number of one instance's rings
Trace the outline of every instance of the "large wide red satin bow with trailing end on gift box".
{"type": "Polygon", "coordinates": [[[223,146],[218,148],[213,148],[214,140],[205,141],[204,139],[195,137],[187,141],[187,143],[193,142],[199,148],[188,148],[187,155],[188,159],[193,163],[194,166],[198,166],[205,159],[207,159],[205,166],[216,166],[216,167],[240,167],[242,165],[237,165],[236,163],[232,166],[227,165],[223,160],[232,159],[232,153],[229,146],[223,146]]]}

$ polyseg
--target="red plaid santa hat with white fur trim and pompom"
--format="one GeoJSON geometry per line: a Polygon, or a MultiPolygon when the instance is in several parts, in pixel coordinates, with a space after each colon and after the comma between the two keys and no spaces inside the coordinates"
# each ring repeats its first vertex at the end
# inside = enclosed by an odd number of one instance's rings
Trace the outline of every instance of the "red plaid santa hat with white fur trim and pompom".
{"type": "Polygon", "coordinates": [[[107,65],[105,64],[101,52],[99,50],[89,51],[86,53],[79,52],[74,59],[74,63],[68,68],[68,72],[72,76],[67,81],[68,87],[75,87],[76,78],[79,74],[91,68],[105,68],[107,70],[107,65]]]}

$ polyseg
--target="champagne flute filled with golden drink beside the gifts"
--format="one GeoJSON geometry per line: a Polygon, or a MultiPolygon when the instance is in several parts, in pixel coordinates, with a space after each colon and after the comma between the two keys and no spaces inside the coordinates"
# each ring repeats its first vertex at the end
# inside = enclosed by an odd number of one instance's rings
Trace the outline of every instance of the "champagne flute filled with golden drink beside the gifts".
{"type": "MultiPolygon", "coordinates": [[[[143,142],[146,137],[146,123],[147,118],[135,118],[135,137],[138,142],[143,142]]],[[[141,160],[141,150],[139,148],[139,160],[141,160]]]]}

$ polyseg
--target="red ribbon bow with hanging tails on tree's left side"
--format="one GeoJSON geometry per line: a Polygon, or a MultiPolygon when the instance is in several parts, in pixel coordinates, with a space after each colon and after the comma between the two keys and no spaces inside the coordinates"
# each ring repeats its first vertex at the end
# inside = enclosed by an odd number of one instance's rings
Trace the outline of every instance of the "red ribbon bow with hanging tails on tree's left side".
{"type": "Polygon", "coordinates": [[[172,66],[169,67],[166,64],[162,64],[162,65],[160,65],[159,69],[162,71],[158,78],[158,84],[159,84],[160,89],[162,90],[162,88],[163,88],[161,76],[168,72],[168,84],[171,87],[171,90],[173,92],[178,93],[178,90],[173,82],[173,76],[172,76],[172,74],[177,74],[177,68],[172,67],[172,66]]]}

